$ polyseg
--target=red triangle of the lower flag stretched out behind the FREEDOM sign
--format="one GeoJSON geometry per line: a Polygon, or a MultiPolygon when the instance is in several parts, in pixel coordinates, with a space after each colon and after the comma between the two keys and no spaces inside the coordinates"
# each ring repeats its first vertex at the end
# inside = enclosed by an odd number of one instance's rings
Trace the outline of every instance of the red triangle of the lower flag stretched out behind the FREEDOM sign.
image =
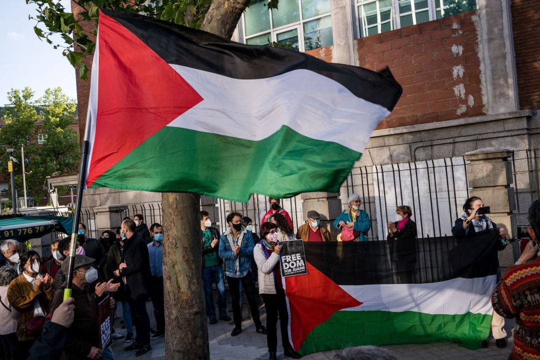
{"type": "Polygon", "coordinates": [[[362,303],[306,262],[307,275],[285,277],[292,345],[298,351],[310,332],[336,311],[362,303]]]}

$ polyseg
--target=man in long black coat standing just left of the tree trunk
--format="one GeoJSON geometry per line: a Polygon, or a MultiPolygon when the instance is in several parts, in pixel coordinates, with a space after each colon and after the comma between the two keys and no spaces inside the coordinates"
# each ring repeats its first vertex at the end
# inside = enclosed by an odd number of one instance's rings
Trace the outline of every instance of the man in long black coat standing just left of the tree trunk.
{"type": "Polygon", "coordinates": [[[150,318],[146,311],[152,273],[146,242],[136,233],[135,228],[135,222],[131,219],[124,220],[120,226],[124,254],[123,262],[117,270],[114,270],[114,275],[121,277],[126,284],[125,295],[137,330],[135,341],[124,350],[138,350],[135,355],[140,356],[152,349],[150,347],[150,318]]]}

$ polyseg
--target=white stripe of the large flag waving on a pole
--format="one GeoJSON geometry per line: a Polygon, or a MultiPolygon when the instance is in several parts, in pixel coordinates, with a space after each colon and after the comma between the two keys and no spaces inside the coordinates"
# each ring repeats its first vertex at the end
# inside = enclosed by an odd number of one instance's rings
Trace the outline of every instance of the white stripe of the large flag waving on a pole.
{"type": "Polygon", "coordinates": [[[171,66],[204,100],[168,126],[261,140],[286,125],[308,138],[363,152],[375,126],[390,113],[309,70],[242,80],[171,66]]]}

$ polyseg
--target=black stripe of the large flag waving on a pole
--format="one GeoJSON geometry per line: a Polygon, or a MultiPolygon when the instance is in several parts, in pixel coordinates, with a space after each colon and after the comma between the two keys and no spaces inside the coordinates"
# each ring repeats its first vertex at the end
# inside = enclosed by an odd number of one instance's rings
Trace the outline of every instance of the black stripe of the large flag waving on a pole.
{"type": "MultiPolygon", "coordinates": [[[[124,11],[102,10],[131,31],[168,64],[235,79],[265,79],[309,70],[346,87],[355,96],[392,111],[402,88],[388,69],[329,64],[306,53],[272,46],[244,45],[211,33],[124,11]]],[[[227,89],[230,90],[230,89],[227,89]]]]}

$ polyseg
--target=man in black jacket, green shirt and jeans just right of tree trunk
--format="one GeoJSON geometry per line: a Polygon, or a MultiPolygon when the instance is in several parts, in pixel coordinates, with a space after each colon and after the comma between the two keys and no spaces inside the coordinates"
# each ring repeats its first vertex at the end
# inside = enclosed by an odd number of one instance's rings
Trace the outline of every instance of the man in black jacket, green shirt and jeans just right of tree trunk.
{"type": "Polygon", "coordinates": [[[230,321],[227,316],[227,302],[225,299],[225,281],[223,280],[223,260],[218,255],[219,232],[212,227],[212,221],[208,218],[208,212],[200,212],[201,219],[201,249],[203,249],[203,281],[204,298],[206,302],[206,315],[210,318],[210,324],[217,324],[215,316],[214,298],[212,296],[212,282],[218,289],[219,319],[230,321]]]}

